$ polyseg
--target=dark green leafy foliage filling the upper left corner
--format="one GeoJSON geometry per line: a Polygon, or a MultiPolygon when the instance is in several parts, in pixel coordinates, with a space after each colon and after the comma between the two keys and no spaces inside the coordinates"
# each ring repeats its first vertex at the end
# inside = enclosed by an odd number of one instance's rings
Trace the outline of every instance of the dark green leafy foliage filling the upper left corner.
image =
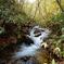
{"type": "Polygon", "coordinates": [[[0,0],[0,18],[13,23],[27,22],[28,16],[20,7],[15,0],[0,0]]]}

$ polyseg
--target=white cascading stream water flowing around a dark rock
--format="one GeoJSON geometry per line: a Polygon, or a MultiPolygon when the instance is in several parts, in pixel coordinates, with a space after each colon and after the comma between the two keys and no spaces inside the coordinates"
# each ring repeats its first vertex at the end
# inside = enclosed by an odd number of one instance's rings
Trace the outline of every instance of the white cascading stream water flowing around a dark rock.
{"type": "Polygon", "coordinates": [[[43,42],[43,39],[48,37],[49,33],[50,33],[49,29],[35,26],[30,30],[30,34],[27,35],[27,37],[34,41],[34,44],[28,46],[28,47],[26,44],[22,44],[20,51],[16,52],[13,57],[20,59],[23,56],[34,56],[37,50],[40,49],[41,42],[43,42]],[[36,30],[39,30],[39,31],[35,34],[36,30]]]}

